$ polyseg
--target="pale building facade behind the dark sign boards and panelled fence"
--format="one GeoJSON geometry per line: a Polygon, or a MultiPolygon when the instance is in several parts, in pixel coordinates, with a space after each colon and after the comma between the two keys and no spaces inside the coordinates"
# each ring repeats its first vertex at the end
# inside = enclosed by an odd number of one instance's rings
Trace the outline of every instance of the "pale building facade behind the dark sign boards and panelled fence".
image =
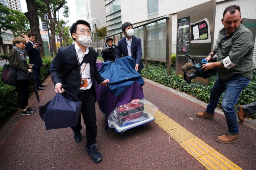
{"type": "MultiPolygon", "coordinates": [[[[124,36],[121,30],[122,23],[130,22],[135,28],[135,36],[141,38],[142,57],[148,60],[166,62],[168,58],[166,57],[166,50],[169,45],[171,45],[172,53],[176,54],[177,12],[209,1],[105,0],[107,36],[114,36],[114,43],[117,44],[118,40],[124,36]],[[166,34],[166,22],[168,22],[169,16],[171,17],[172,36],[166,34]],[[171,40],[166,41],[169,38],[171,40]]],[[[241,7],[242,19],[256,19],[256,3],[254,0],[216,0],[214,45],[218,38],[219,30],[223,28],[221,22],[223,11],[230,5],[239,5],[241,7]]],[[[254,47],[253,60],[254,67],[256,67],[256,47],[254,47]]]]}

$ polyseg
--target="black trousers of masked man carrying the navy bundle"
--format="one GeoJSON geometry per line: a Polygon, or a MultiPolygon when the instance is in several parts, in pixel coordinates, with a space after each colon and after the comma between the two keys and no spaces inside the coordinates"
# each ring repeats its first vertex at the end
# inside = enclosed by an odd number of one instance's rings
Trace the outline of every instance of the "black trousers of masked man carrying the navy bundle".
{"type": "MultiPolygon", "coordinates": [[[[86,126],[86,145],[88,147],[96,143],[97,125],[96,125],[96,110],[95,110],[95,96],[92,89],[79,92],[79,99],[82,101],[82,116],[86,126]]],[[[71,127],[73,131],[78,132],[82,130],[81,114],[78,123],[75,127],[71,127]]]]}

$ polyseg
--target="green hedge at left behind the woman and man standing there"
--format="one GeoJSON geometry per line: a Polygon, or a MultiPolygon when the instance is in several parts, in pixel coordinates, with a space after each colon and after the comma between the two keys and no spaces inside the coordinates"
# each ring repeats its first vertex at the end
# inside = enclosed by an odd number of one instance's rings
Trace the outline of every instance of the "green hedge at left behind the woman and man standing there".
{"type": "MultiPolygon", "coordinates": [[[[42,58],[44,64],[48,66],[43,66],[40,72],[40,81],[43,82],[44,79],[50,74],[50,65],[52,63],[52,57],[42,58]]],[[[28,61],[29,62],[29,61],[28,61]]],[[[2,74],[3,67],[0,67],[0,74],[2,74]]],[[[34,86],[32,81],[29,84],[29,91],[34,92],[34,86]]],[[[19,109],[18,96],[15,91],[15,86],[7,85],[0,81],[0,119],[15,113],[19,109]]]]}

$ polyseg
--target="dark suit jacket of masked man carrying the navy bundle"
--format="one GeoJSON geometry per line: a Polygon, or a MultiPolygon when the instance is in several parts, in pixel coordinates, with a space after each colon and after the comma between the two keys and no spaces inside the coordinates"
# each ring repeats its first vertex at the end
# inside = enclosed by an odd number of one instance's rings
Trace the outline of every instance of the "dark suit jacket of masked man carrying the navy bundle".
{"type": "MultiPolygon", "coordinates": [[[[94,50],[94,49],[92,49],[94,50]]],[[[95,95],[95,101],[96,101],[96,92],[95,92],[95,81],[97,83],[102,83],[104,81],[104,78],[101,77],[99,74],[99,71],[96,67],[96,60],[97,60],[98,53],[95,51],[93,57],[90,59],[90,72],[92,77],[92,88],[95,95]]],[[[85,56],[86,57],[86,56],[85,56]]],[[[58,52],[56,56],[54,57],[52,61],[52,70],[51,70],[51,77],[54,86],[57,83],[61,83],[63,85],[63,81],[67,79],[69,74],[75,70],[75,68],[78,66],[78,61],[76,58],[76,49],[75,44],[62,47],[58,49],[58,52]]],[[[75,96],[78,97],[79,89],[80,89],[80,70],[78,69],[69,79],[66,85],[63,85],[63,89],[67,89],[71,93],[73,93],[75,96]]]]}

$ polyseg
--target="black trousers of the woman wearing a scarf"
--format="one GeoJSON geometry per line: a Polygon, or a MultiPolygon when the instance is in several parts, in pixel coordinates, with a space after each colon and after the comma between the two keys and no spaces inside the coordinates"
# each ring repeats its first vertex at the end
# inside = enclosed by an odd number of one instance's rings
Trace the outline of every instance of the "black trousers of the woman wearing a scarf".
{"type": "Polygon", "coordinates": [[[18,92],[19,108],[25,109],[29,105],[29,81],[18,81],[15,88],[18,92]]]}

